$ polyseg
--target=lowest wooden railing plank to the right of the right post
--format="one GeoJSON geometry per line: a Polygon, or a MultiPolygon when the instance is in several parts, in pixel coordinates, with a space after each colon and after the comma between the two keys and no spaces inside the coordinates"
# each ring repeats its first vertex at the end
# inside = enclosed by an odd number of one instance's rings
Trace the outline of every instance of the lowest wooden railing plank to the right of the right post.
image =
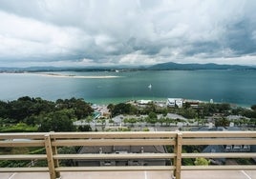
{"type": "Polygon", "coordinates": [[[182,166],[182,170],[256,170],[256,166],[182,166]]]}

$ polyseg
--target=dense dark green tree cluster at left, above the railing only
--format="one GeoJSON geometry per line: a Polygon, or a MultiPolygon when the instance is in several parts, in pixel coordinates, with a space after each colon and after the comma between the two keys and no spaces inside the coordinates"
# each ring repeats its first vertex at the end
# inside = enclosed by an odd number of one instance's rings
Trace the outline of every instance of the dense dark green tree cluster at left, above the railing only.
{"type": "Polygon", "coordinates": [[[21,97],[14,101],[0,101],[0,131],[75,131],[73,122],[91,116],[93,109],[82,99],[21,97]]]}

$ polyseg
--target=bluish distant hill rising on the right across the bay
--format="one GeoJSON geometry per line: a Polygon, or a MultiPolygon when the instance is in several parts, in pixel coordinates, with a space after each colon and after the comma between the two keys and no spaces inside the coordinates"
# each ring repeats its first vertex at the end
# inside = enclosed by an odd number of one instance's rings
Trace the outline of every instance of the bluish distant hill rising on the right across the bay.
{"type": "Polygon", "coordinates": [[[173,62],[157,64],[148,70],[256,70],[254,67],[218,64],[177,64],[173,62]]]}

